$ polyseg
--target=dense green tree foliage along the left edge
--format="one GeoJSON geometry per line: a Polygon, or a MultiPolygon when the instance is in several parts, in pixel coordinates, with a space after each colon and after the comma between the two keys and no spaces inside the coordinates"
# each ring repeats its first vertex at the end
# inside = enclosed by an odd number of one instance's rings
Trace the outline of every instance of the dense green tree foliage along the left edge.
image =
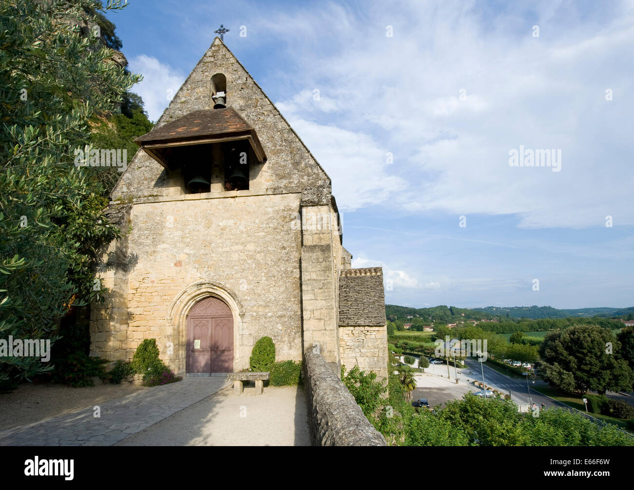
{"type": "MultiPolygon", "coordinates": [[[[119,7],[114,7],[119,8],[119,7]]],[[[104,11],[98,1],[0,0],[0,332],[55,340],[70,304],[100,299],[98,250],[119,236],[89,167],[75,167],[88,121],[107,113],[140,77],[68,19],[104,11]]],[[[0,359],[0,378],[50,368],[0,359]]]]}

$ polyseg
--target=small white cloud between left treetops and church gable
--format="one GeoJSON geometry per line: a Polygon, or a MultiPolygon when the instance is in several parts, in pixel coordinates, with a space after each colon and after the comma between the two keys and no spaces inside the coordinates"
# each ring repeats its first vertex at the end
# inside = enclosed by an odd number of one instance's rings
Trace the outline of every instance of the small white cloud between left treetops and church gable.
{"type": "Polygon", "coordinates": [[[143,98],[150,120],[159,120],[171,96],[173,97],[183,85],[184,75],[161,63],[157,58],[146,55],[139,55],[130,60],[129,68],[131,72],[143,75],[143,81],[136,84],[132,91],[143,98]]]}

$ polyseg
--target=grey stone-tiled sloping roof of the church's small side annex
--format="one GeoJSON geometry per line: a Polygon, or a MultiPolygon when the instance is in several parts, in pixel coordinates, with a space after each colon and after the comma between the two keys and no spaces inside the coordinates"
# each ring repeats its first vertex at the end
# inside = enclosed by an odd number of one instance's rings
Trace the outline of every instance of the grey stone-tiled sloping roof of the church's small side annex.
{"type": "Polygon", "coordinates": [[[346,269],[339,276],[339,326],[385,325],[383,269],[346,269]]]}

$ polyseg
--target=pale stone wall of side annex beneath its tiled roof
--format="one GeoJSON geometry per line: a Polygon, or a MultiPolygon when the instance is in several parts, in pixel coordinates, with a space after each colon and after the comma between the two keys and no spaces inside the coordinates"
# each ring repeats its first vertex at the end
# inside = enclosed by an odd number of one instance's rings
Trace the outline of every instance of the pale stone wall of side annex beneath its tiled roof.
{"type": "Polygon", "coordinates": [[[359,366],[387,380],[387,328],[385,326],[339,327],[339,356],[346,370],[359,366]]]}

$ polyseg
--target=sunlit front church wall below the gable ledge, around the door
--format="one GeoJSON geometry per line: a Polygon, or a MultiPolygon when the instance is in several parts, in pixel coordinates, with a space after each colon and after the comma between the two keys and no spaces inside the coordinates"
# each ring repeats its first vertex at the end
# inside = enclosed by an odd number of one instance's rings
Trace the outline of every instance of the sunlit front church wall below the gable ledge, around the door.
{"type": "MultiPolygon", "coordinates": [[[[264,335],[278,360],[301,359],[301,230],[292,226],[300,195],[196,197],[132,206],[130,270],[113,292],[126,292],[127,323],[97,320],[96,335],[104,330],[107,338],[93,335],[93,355],[131,359],[141,340],[157,338],[161,358],[184,373],[186,322],[168,312],[184,288],[208,281],[243,309],[234,320],[234,370],[248,366],[264,335]]],[[[104,316],[93,309],[95,319],[104,316]]]]}

